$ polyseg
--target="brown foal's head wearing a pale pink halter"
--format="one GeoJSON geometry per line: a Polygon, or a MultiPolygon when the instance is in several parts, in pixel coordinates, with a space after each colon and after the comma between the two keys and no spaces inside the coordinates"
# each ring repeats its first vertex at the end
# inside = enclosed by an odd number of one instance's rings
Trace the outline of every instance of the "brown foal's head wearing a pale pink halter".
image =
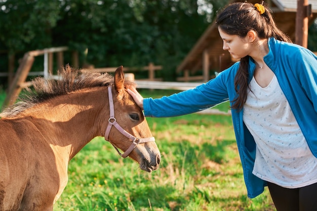
{"type": "Polygon", "coordinates": [[[142,110],[126,91],[129,86],[135,86],[135,83],[125,81],[122,66],[114,73],[113,86],[114,89],[108,88],[110,118],[105,139],[121,156],[136,160],[142,170],[154,171],[159,167],[161,154],[142,110]],[[121,125],[124,125],[124,128],[121,125]],[[125,152],[121,153],[117,148],[125,152]]]}

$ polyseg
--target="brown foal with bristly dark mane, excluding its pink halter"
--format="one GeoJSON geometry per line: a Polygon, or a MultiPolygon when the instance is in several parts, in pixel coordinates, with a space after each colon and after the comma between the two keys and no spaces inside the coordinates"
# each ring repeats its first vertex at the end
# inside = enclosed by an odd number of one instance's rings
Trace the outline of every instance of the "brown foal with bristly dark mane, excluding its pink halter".
{"type": "MultiPolygon", "coordinates": [[[[109,119],[107,86],[114,88],[117,122],[136,137],[151,136],[142,111],[125,91],[125,86],[135,85],[124,84],[122,67],[114,80],[108,74],[76,72],[69,66],[61,77],[36,79],[37,93],[1,114],[1,211],[53,210],[67,184],[69,160],[94,137],[104,136],[109,119]]],[[[122,150],[131,143],[115,129],[109,141],[122,150]]],[[[137,145],[129,156],[142,170],[159,167],[155,142],[137,145]]]]}

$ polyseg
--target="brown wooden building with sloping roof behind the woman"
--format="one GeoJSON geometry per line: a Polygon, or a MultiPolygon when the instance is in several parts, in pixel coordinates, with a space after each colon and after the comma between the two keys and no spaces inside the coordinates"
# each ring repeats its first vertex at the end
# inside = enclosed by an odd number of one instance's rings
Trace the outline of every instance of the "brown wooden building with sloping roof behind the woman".
{"type": "MultiPolygon", "coordinates": [[[[241,1],[229,1],[229,3],[233,2],[241,1]]],[[[249,0],[248,2],[255,4],[260,1],[249,0]]],[[[265,3],[272,10],[276,25],[288,34],[295,43],[297,0],[268,0],[265,3]]],[[[312,13],[309,18],[309,25],[317,17],[317,0],[309,0],[308,4],[311,5],[312,13]]],[[[183,75],[178,80],[208,81],[215,76],[215,71],[220,72],[228,68],[235,61],[231,59],[227,51],[222,49],[222,45],[223,41],[214,21],[178,66],[177,72],[183,75]],[[197,72],[202,72],[202,75],[197,75],[197,72]]]]}

